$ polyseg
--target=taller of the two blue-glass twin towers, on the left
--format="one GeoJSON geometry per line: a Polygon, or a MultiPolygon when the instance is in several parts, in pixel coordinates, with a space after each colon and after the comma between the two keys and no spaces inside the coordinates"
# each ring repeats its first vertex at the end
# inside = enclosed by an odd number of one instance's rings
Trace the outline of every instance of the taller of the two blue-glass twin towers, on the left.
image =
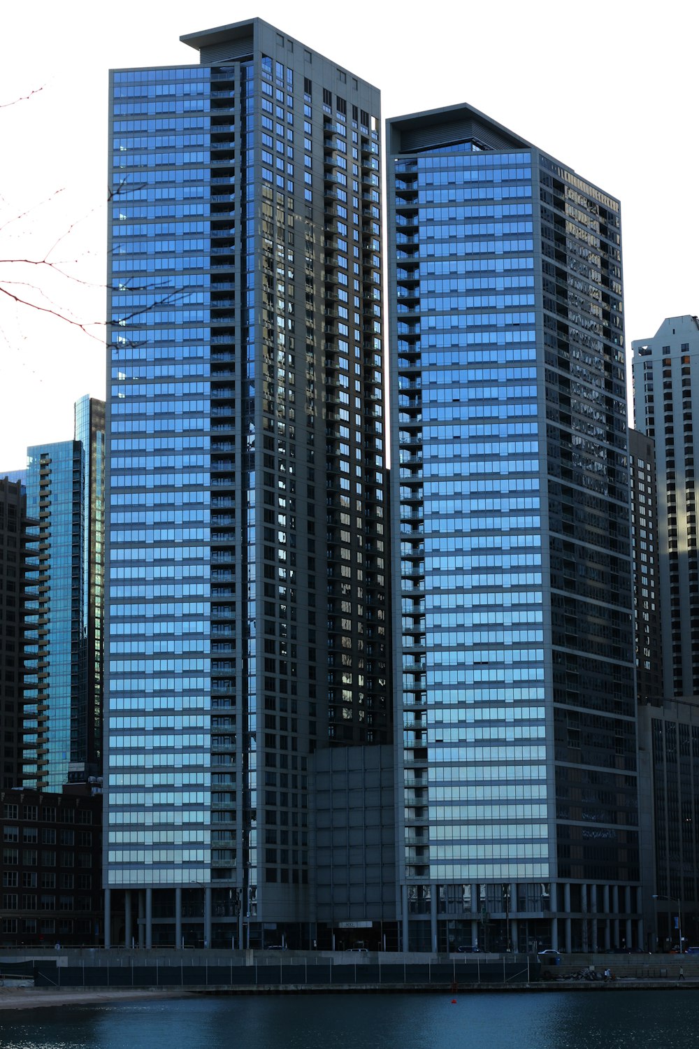
{"type": "Polygon", "coordinates": [[[308,945],[312,755],[390,737],[379,97],[182,40],[111,78],[107,917],[308,945]]]}

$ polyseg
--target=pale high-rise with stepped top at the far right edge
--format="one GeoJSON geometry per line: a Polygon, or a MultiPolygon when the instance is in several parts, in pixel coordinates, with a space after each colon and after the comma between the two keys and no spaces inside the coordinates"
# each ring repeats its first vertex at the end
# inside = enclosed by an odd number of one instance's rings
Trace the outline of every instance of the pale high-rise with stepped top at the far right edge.
{"type": "Polygon", "coordinates": [[[699,318],[633,342],[636,428],[655,440],[664,695],[699,695],[699,318]]]}

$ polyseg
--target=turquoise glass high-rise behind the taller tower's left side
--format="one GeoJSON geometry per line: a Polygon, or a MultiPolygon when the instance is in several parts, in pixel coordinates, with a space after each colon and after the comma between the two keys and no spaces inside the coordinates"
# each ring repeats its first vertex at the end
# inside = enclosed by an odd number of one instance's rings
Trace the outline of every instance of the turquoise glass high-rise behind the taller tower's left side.
{"type": "Polygon", "coordinates": [[[25,679],[23,784],[61,790],[100,771],[101,634],[97,558],[104,403],[78,402],[80,437],[27,449],[27,511],[38,524],[30,620],[36,651],[25,679]],[[85,443],[83,443],[83,440],[85,443]],[[92,508],[95,510],[92,516],[92,508]],[[94,549],[93,549],[94,548],[94,549]]]}

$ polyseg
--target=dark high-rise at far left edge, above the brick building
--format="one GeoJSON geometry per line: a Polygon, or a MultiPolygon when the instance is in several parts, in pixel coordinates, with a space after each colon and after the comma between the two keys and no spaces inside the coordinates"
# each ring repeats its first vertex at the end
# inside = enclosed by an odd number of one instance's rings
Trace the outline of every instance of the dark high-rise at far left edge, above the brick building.
{"type": "MultiPolygon", "coordinates": [[[[0,783],[3,788],[22,784],[27,523],[26,495],[21,481],[1,477],[0,783]]],[[[26,658],[30,660],[30,642],[26,640],[26,658]]]]}

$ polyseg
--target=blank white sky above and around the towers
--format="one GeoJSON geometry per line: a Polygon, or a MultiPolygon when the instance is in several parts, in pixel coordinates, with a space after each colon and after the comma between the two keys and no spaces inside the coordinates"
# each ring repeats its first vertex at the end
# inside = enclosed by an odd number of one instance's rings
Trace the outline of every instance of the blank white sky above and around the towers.
{"type": "Polygon", "coordinates": [[[110,67],[196,63],[180,35],[259,16],[379,87],[385,117],[476,106],[620,198],[630,347],[665,317],[699,314],[698,12],[678,0],[5,4],[0,284],[34,283],[92,335],[0,294],[0,469],[68,440],[73,401],[105,394],[110,67]],[[2,261],[49,251],[84,283],[2,261]]]}

